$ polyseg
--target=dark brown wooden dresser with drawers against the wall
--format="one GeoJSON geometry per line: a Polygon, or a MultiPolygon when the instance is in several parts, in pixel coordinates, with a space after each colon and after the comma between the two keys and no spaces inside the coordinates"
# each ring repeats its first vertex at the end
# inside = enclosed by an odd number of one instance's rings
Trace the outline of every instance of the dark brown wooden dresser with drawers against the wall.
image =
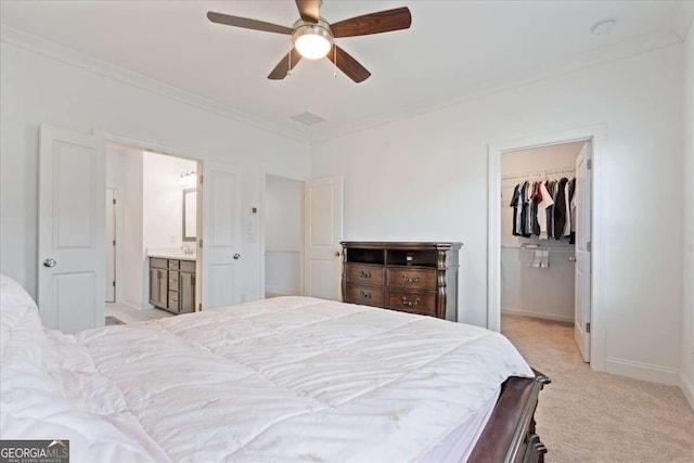
{"type": "Polygon", "coordinates": [[[343,300],[458,320],[462,243],[343,242],[343,300]]]}

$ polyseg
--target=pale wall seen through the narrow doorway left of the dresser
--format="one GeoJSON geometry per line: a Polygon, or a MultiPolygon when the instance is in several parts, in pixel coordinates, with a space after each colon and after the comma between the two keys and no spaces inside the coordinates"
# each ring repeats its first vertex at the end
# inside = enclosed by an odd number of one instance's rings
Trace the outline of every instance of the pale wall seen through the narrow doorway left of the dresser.
{"type": "Polygon", "coordinates": [[[268,175],[265,193],[266,295],[300,294],[304,184],[268,175]]]}

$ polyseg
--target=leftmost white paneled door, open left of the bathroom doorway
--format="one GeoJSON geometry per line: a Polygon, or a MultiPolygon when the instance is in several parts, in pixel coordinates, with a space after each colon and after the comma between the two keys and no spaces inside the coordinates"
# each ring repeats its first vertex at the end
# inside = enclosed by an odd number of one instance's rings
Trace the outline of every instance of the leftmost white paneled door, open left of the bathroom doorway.
{"type": "Polygon", "coordinates": [[[105,165],[102,139],[41,126],[38,305],[66,333],[104,324],[105,165]]]}

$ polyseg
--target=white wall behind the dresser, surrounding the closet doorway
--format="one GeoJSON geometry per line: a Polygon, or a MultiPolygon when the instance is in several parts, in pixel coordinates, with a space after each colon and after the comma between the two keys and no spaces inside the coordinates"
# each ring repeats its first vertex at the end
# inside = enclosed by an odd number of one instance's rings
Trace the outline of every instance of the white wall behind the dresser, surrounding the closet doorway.
{"type": "Polygon", "coordinates": [[[603,124],[606,368],[674,382],[682,99],[677,44],[317,142],[311,173],[344,175],[346,240],[462,241],[459,320],[486,325],[488,144],[603,124]]]}

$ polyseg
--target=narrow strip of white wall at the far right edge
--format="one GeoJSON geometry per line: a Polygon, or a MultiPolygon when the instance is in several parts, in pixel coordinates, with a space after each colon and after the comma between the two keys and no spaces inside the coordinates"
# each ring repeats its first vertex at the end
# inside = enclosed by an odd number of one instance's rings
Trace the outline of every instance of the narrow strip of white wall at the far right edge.
{"type": "Polygon", "coordinates": [[[683,390],[694,408],[694,27],[684,49],[684,300],[682,320],[683,390]]]}

